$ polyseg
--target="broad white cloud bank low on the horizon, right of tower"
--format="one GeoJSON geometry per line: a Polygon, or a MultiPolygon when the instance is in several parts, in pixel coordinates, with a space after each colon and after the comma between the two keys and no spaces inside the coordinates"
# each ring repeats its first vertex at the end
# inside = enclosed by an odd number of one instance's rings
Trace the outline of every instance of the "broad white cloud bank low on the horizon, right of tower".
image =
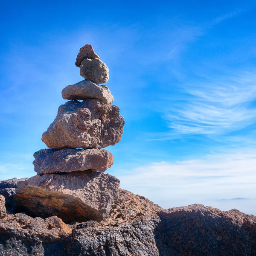
{"type": "Polygon", "coordinates": [[[120,173],[122,188],[164,208],[200,203],[256,215],[255,149],[174,163],[150,163],[120,173]]]}

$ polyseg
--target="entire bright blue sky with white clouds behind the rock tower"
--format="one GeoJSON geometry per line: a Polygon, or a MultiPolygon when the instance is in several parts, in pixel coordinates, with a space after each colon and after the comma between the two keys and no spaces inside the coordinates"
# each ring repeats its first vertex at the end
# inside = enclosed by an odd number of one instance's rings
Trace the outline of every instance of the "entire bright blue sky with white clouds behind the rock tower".
{"type": "Polygon", "coordinates": [[[92,44],[125,118],[121,187],[164,208],[256,215],[254,1],[14,1],[0,10],[0,180],[31,177],[92,44]]]}

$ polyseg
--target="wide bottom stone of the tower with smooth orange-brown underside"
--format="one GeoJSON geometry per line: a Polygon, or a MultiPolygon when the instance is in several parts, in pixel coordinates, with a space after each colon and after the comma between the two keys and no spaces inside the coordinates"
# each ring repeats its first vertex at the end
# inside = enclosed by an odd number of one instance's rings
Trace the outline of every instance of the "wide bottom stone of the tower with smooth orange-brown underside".
{"type": "Polygon", "coordinates": [[[20,212],[36,217],[101,221],[118,198],[119,183],[94,171],[36,175],[17,184],[15,204],[20,212]]]}

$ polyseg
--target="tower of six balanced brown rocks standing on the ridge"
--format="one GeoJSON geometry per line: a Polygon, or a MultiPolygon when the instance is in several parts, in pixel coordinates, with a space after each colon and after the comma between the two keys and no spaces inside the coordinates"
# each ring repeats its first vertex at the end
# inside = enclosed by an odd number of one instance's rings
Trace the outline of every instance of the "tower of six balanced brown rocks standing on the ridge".
{"type": "Polygon", "coordinates": [[[90,44],[80,49],[75,65],[85,80],[62,90],[68,101],[42,136],[49,148],[34,154],[37,175],[17,183],[15,195],[18,211],[56,215],[67,223],[101,221],[109,214],[119,180],[103,174],[113,155],[102,148],[118,143],[124,126],[110,90],[99,85],[108,81],[108,67],[90,44]]]}

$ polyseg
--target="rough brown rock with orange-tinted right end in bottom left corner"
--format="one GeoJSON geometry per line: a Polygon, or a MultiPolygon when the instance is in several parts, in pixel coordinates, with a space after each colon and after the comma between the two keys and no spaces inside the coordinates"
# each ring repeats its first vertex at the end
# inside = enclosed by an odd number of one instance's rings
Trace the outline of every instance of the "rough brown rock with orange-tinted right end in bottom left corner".
{"type": "Polygon", "coordinates": [[[8,215],[0,221],[0,256],[64,256],[71,228],[56,216],[8,215]]]}

